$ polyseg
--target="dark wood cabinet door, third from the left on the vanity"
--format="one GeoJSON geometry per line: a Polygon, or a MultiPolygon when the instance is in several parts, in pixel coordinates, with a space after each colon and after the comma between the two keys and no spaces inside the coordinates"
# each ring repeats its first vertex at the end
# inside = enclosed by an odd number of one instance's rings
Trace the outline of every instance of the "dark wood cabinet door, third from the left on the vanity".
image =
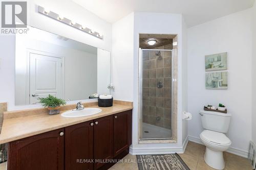
{"type": "Polygon", "coordinates": [[[113,158],[113,115],[94,120],[94,169],[113,158]]]}

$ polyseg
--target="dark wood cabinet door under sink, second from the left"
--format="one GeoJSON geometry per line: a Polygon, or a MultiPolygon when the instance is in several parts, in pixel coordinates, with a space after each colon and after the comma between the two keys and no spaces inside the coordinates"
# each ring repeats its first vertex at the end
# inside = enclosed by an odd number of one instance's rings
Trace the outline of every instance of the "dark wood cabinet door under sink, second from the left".
{"type": "Polygon", "coordinates": [[[65,170],[93,170],[92,122],[65,128],[65,170]]]}

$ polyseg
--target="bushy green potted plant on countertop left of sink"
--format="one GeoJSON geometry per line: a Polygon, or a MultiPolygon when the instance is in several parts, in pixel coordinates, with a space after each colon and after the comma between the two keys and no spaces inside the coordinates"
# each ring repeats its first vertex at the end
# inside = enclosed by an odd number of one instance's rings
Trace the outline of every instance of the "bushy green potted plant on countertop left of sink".
{"type": "Polygon", "coordinates": [[[38,98],[41,105],[47,107],[49,110],[49,114],[58,114],[60,106],[66,105],[66,101],[62,99],[58,99],[55,96],[49,94],[47,98],[38,98]]]}

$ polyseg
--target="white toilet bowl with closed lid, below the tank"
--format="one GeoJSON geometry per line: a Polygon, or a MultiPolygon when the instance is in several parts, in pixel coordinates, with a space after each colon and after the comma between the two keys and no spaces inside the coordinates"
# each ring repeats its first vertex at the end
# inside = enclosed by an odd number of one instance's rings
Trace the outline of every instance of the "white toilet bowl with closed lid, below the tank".
{"type": "Polygon", "coordinates": [[[228,150],[231,141],[225,134],[209,130],[204,130],[200,134],[200,139],[206,147],[204,154],[205,162],[215,169],[224,169],[223,152],[228,150]]]}

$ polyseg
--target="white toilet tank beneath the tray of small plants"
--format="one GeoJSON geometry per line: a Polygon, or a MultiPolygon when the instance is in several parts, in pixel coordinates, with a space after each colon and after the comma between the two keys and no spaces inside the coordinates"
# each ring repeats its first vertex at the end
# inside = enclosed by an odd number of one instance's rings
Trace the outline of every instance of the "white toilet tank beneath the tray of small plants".
{"type": "Polygon", "coordinates": [[[227,133],[231,114],[205,110],[200,111],[199,114],[204,129],[227,133]]]}

